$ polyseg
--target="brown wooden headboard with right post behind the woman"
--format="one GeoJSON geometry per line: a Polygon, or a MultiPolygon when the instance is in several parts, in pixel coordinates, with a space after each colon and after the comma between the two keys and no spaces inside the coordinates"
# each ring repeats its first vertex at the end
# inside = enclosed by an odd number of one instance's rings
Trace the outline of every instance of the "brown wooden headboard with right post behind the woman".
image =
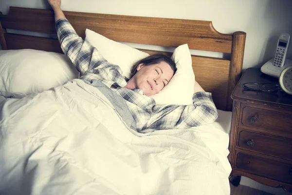
{"type": "MultiPolygon", "coordinates": [[[[245,32],[221,34],[214,29],[211,21],[201,20],[69,11],[64,14],[83,38],[86,28],[89,28],[115,41],[174,48],[187,43],[190,49],[230,54],[226,55],[229,59],[192,56],[192,62],[196,80],[205,91],[212,93],[217,108],[232,110],[230,95],[242,70],[245,32]]],[[[7,33],[6,29],[56,34],[52,10],[10,7],[8,15],[0,13],[0,43],[2,49],[38,49],[63,53],[57,39],[7,33]]],[[[142,51],[157,53],[153,50],[142,51]]]]}

